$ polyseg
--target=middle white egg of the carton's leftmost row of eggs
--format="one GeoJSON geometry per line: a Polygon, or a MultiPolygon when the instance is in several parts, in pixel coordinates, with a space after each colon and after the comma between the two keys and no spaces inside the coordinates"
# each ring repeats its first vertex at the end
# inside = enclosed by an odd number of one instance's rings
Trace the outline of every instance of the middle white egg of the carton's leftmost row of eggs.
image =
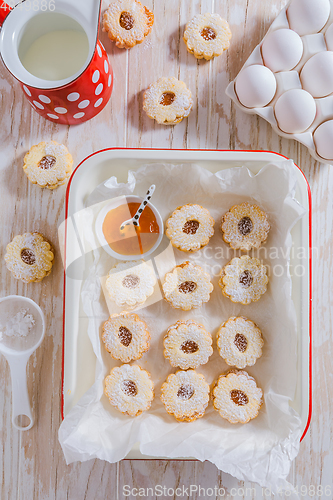
{"type": "Polygon", "coordinates": [[[272,71],[289,71],[303,55],[303,42],[293,30],[271,31],[263,41],[261,53],[265,66],[272,71]]]}

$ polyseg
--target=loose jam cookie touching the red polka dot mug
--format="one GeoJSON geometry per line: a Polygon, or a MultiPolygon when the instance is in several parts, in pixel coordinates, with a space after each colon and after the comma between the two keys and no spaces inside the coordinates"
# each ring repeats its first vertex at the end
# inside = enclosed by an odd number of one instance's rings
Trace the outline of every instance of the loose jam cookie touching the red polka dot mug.
{"type": "Polygon", "coordinates": [[[115,0],[103,15],[103,31],[120,49],[142,43],[153,23],[154,14],[138,0],[115,0]]]}

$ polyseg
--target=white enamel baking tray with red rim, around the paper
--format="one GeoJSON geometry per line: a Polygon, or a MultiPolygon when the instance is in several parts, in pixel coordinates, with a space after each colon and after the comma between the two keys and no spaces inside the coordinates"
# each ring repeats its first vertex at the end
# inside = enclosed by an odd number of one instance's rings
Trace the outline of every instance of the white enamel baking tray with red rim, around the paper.
{"type": "MultiPolygon", "coordinates": [[[[89,194],[103,181],[116,176],[118,182],[126,182],[129,170],[136,170],[148,163],[195,163],[211,172],[246,165],[257,173],[264,165],[284,159],[281,155],[266,151],[219,151],[219,150],[162,150],[162,149],[106,149],[93,153],[74,170],[66,195],[66,221],[64,235],[64,260],[72,262],[77,250],[75,232],[70,227],[71,216],[85,208],[89,194]]],[[[161,167],[162,168],[162,167],[161,167]]],[[[295,248],[308,252],[291,252],[292,298],[297,313],[298,328],[298,380],[293,408],[302,419],[305,436],[311,418],[311,193],[307,180],[300,169],[297,171],[296,199],[307,210],[292,230],[295,248]],[[292,269],[301,265],[306,269],[301,277],[292,269]]],[[[88,318],[82,310],[80,276],[81,266],[75,272],[64,274],[63,297],[63,380],[62,417],[64,418],[80,397],[95,381],[96,358],[87,334],[88,318]]],[[[66,269],[66,265],[65,265],[66,269]]],[[[82,274],[82,273],[81,273],[82,274]]],[[[143,457],[139,446],[134,446],[127,458],[143,457]]],[[[156,457],[154,457],[156,458],[156,457]]]]}

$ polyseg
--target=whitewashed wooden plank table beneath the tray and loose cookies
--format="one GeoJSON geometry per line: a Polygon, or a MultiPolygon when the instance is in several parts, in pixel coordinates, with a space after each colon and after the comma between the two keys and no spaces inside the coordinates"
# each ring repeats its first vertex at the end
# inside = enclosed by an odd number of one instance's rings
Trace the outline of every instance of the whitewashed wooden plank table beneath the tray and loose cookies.
{"type": "MultiPolygon", "coordinates": [[[[79,126],[61,126],[42,119],[24,99],[18,83],[0,65],[0,295],[31,297],[44,310],[47,323],[45,340],[28,366],[30,396],[37,412],[37,423],[30,431],[20,433],[12,427],[9,369],[0,357],[1,500],[122,499],[125,484],[130,487],[161,484],[170,488],[190,484],[206,488],[224,486],[227,493],[232,487],[244,486],[208,462],[109,464],[92,460],[65,464],[57,435],[61,422],[63,290],[57,228],[64,220],[66,188],[40,189],[27,180],[22,169],[27,150],[41,140],[51,139],[67,145],[76,165],[91,152],[107,147],[155,147],[271,150],[293,158],[300,166],[312,190],[313,244],[317,248],[313,263],[313,414],[292,466],[290,482],[299,488],[332,486],[333,170],[314,161],[298,142],[279,137],[263,119],[236,109],[225,95],[227,84],[238,74],[285,3],[284,0],[146,0],[145,4],[155,14],[155,24],[141,46],[129,51],[117,49],[101,33],[113,66],[114,90],[106,108],[79,126]],[[211,62],[197,61],[187,53],[182,41],[184,26],[195,14],[212,11],[229,21],[233,33],[231,46],[211,62]],[[194,97],[189,118],[176,127],[157,125],[142,111],[144,89],[161,76],[184,80],[194,97]],[[13,279],[3,256],[6,244],[16,234],[34,230],[52,241],[57,258],[48,278],[26,285],[13,279]]],[[[256,494],[242,495],[240,490],[232,498],[264,498],[261,488],[255,488],[256,494]]],[[[310,497],[307,494],[303,498],[310,497]]],[[[317,494],[312,496],[317,497],[317,494]]]]}

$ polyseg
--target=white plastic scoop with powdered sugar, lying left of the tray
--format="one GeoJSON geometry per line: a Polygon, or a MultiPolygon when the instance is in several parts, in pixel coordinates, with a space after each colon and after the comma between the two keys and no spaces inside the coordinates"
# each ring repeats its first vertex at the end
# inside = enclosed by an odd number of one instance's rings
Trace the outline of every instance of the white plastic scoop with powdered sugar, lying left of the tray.
{"type": "Polygon", "coordinates": [[[0,299],[0,325],[0,352],[8,361],[12,379],[12,423],[16,429],[24,431],[34,424],[27,388],[27,362],[44,338],[44,314],[33,300],[9,295],[0,299]],[[33,316],[31,329],[26,336],[6,335],[6,325],[22,311],[33,316]]]}

